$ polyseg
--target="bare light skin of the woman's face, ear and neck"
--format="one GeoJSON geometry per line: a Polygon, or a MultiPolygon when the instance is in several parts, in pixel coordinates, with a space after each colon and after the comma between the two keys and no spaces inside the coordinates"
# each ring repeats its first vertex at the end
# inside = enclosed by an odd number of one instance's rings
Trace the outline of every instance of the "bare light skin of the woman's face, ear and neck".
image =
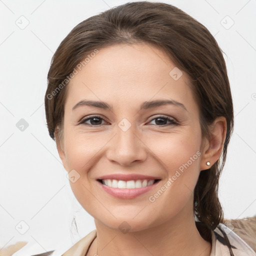
{"type": "Polygon", "coordinates": [[[75,197],[94,217],[97,237],[87,255],[94,255],[97,246],[100,256],[210,254],[211,244],[194,223],[193,189],[200,170],[210,167],[206,162],[212,165],[220,157],[226,121],[218,117],[210,126],[210,141],[202,138],[189,79],[183,72],[174,80],[169,75],[174,67],[152,45],[114,45],[99,49],[68,84],[62,136],[56,137],[56,144],[66,171],[74,169],[80,175],[70,182],[75,197]],[[72,110],[82,99],[104,101],[113,108],[83,105],[72,110]],[[143,102],[156,99],[174,99],[187,111],[172,104],[139,110],[143,102]],[[100,115],[99,125],[91,119],[87,125],[77,124],[89,115],[100,115]],[[178,125],[166,119],[157,122],[160,115],[174,118],[178,125]],[[123,118],[131,124],[127,131],[118,126],[123,118]],[[155,201],[149,201],[197,151],[200,156],[155,201]],[[96,181],[113,173],[161,180],[144,194],[120,199],[100,189],[96,181]],[[127,233],[118,228],[123,221],[130,227],[127,233]]]}

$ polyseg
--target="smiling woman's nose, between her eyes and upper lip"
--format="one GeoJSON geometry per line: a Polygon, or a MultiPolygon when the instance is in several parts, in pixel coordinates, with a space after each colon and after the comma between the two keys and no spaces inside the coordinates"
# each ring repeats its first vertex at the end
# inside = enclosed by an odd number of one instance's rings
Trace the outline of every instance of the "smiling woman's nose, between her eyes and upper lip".
{"type": "Polygon", "coordinates": [[[133,162],[142,162],[147,156],[147,147],[136,132],[134,125],[127,130],[116,126],[116,133],[109,141],[106,157],[121,166],[131,165],[133,162]]]}

